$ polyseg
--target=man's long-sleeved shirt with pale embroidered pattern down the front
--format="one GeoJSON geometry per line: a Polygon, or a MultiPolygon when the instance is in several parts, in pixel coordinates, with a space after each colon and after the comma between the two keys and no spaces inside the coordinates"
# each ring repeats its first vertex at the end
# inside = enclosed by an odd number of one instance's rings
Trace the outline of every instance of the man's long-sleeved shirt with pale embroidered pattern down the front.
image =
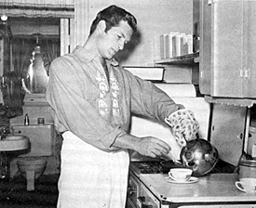
{"type": "Polygon", "coordinates": [[[101,150],[128,134],[131,113],[164,121],[178,110],[166,93],[107,60],[109,81],[100,59],[82,46],[50,65],[47,101],[56,129],[71,131],[101,150]]]}

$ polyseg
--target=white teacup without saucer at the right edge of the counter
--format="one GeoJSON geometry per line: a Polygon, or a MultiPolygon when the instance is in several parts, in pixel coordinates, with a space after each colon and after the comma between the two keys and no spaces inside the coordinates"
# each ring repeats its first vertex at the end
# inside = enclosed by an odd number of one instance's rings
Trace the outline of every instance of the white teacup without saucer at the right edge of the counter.
{"type": "Polygon", "coordinates": [[[240,178],[240,181],[236,181],[236,188],[244,192],[256,193],[256,178],[240,178]]]}

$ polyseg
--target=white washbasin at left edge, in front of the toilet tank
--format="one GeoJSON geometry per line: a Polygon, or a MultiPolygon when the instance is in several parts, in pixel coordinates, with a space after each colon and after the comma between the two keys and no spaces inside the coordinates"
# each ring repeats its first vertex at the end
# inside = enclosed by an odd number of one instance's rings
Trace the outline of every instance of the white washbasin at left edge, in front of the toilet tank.
{"type": "Polygon", "coordinates": [[[0,140],[0,151],[26,150],[30,147],[27,136],[8,135],[0,140]]]}

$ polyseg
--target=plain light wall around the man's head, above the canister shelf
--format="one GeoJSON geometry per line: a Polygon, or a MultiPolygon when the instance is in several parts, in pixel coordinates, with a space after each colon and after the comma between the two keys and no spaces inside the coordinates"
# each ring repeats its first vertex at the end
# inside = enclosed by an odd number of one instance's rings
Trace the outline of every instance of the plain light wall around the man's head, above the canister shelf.
{"type": "MultiPolygon", "coordinates": [[[[76,2],[79,4],[79,1],[76,2]]],[[[136,35],[128,50],[124,50],[117,57],[123,65],[153,65],[155,37],[158,38],[160,34],[167,32],[192,33],[193,30],[193,1],[191,0],[88,0],[86,4],[88,6],[88,10],[84,11],[86,17],[79,17],[79,20],[85,19],[84,22],[88,22],[89,25],[101,9],[112,4],[124,7],[136,17],[140,34],[136,35]]],[[[87,31],[80,32],[88,36],[87,31]]]]}

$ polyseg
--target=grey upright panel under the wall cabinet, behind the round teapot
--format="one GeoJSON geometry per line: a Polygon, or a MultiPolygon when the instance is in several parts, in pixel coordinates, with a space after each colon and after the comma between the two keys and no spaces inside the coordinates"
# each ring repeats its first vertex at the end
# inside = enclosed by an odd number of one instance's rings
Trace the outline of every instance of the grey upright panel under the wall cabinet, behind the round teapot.
{"type": "Polygon", "coordinates": [[[213,104],[210,142],[222,161],[237,165],[242,154],[247,109],[213,104]]]}

